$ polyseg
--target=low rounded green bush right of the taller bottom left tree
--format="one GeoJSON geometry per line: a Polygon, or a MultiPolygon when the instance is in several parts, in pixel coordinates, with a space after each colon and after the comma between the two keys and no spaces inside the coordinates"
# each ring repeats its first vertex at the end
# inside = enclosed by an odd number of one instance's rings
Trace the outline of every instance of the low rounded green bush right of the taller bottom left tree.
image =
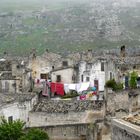
{"type": "Polygon", "coordinates": [[[32,128],[19,140],[49,140],[49,137],[45,131],[32,128]]]}

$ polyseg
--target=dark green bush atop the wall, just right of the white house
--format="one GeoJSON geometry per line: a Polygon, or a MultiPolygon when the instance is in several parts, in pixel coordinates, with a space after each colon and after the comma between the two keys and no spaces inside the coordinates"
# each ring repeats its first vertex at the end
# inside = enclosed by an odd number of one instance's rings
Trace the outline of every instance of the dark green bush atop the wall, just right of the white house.
{"type": "Polygon", "coordinates": [[[123,89],[123,84],[117,83],[114,79],[112,79],[106,82],[105,87],[112,88],[113,91],[118,91],[123,89]]]}

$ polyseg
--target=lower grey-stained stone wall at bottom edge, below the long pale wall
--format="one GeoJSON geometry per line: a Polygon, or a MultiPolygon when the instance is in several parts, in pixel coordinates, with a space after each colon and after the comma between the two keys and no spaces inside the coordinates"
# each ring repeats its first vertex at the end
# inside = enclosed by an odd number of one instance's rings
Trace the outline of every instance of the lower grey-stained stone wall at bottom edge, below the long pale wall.
{"type": "Polygon", "coordinates": [[[43,127],[51,140],[91,140],[89,124],[69,124],[43,127]],[[83,139],[82,139],[83,138],[83,139]]]}

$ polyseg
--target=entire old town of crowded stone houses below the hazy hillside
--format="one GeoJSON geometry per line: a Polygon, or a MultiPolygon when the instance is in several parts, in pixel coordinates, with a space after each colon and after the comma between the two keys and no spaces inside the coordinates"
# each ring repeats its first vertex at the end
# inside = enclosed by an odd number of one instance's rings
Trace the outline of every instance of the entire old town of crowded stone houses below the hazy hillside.
{"type": "Polygon", "coordinates": [[[0,116],[52,140],[140,140],[140,53],[32,51],[0,58],[0,116]]]}

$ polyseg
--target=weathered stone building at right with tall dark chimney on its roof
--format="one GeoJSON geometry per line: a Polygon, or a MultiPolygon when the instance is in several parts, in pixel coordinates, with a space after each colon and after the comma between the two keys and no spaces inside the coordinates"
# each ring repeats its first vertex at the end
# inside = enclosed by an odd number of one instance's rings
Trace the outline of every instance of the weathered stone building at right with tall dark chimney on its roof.
{"type": "Polygon", "coordinates": [[[140,85],[140,56],[125,55],[126,49],[121,47],[120,55],[106,55],[107,63],[105,68],[105,79],[115,79],[117,82],[124,83],[124,87],[129,86],[130,73],[135,71],[138,74],[138,86],[140,85]]]}

